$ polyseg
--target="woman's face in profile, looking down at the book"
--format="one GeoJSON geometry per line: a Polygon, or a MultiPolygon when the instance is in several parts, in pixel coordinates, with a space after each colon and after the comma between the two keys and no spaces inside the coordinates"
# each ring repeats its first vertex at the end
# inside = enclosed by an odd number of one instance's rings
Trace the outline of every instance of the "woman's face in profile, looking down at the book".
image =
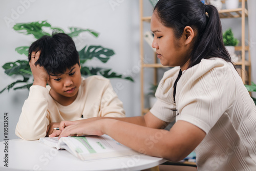
{"type": "Polygon", "coordinates": [[[182,71],[186,70],[190,53],[190,46],[186,44],[187,35],[183,33],[180,38],[176,38],[174,30],[162,25],[156,12],[151,18],[151,31],[154,33],[152,47],[156,48],[157,57],[162,65],[180,66],[182,71]]]}

